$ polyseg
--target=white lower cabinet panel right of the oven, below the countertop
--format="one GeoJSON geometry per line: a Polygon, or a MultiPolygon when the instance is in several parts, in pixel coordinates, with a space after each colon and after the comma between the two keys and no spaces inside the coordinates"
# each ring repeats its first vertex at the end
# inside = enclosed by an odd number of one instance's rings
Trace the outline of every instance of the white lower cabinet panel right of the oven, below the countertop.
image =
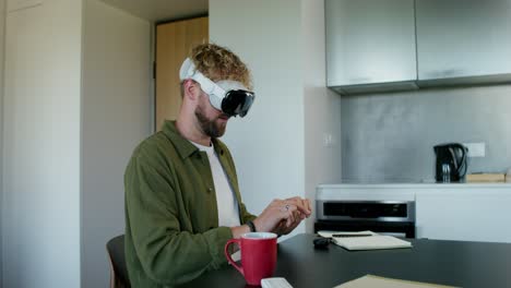
{"type": "Polygon", "coordinates": [[[417,238],[511,242],[511,189],[417,193],[417,238]]]}

